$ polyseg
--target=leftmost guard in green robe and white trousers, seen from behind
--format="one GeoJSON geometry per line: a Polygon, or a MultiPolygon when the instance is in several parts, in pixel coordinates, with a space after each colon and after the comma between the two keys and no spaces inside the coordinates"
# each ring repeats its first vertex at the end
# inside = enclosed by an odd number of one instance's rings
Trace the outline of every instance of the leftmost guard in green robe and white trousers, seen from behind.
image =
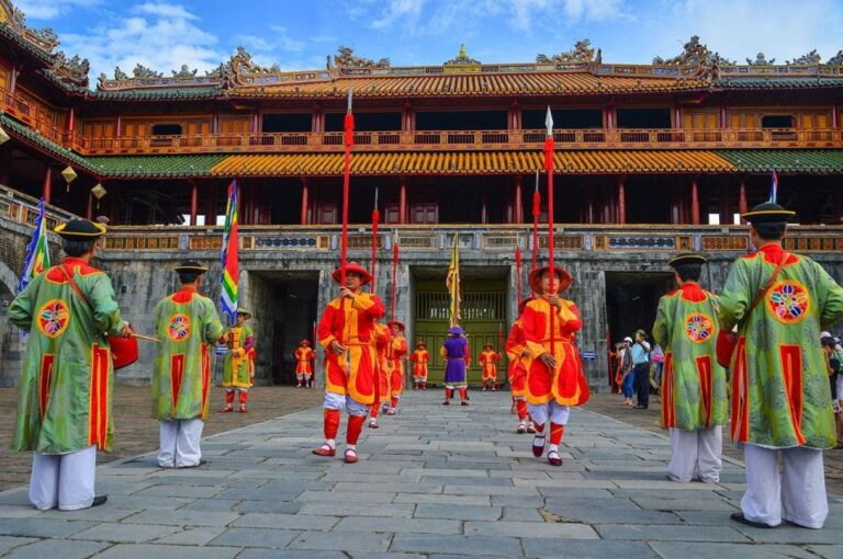
{"type": "Polygon", "coordinates": [[[32,504],[71,511],[105,502],[93,492],[97,448],[111,450],[114,434],[105,335],[133,332],[111,280],[90,265],[105,226],[72,219],[55,232],[64,262],[36,276],[9,306],[9,320],[30,332],[12,448],[35,453],[32,504]]]}

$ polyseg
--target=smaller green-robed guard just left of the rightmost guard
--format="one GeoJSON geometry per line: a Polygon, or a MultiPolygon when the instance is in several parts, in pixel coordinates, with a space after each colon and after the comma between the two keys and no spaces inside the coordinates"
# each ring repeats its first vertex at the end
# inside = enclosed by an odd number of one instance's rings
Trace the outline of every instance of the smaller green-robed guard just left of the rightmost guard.
{"type": "Polygon", "coordinates": [[[664,347],[662,427],[671,434],[667,477],[687,483],[720,480],[727,395],[718,365],[715,296],[699,276],[706,258],[681,254],[670,262],[678,288],[659,299],[653,340],[664,347]]]}

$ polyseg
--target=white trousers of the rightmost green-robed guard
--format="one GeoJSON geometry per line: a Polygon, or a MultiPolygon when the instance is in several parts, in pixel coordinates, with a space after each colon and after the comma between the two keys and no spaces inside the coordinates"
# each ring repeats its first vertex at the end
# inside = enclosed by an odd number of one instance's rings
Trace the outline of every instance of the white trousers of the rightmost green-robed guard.
{"type": "Polygon", "coordinates": [[[746,444],[743,445],[743,460],[746,464],[746,493],[741,499],[744,517],[771,526],[778,526],[784,517],[806,528],[822,527],[829,515],[822,450],[803,446],[775,449],[746,444]]]}

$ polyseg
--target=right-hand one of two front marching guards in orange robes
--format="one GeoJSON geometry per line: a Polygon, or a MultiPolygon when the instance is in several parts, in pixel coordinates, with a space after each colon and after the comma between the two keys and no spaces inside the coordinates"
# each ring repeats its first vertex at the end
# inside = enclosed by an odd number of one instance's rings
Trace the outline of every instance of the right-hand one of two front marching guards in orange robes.
{"type": "Polygon", "coordinates": [[[527,304],[521,318],[530,352],[525,366],[528,409],[536,425],[532,454],[537,458],[544,454],[544,424],[550,420],[548,461],[552,466],[562,465],[559,444],[567,423],[569,407],[582,406],[588,400],[588,383],[583,374],[580,352],[574,345],[576,331],[583,321],[576,305],[559,296],[572,282],[571,274],[561,267],[555,267],[553,274],[550,266],[533,270],[530,287],[541,297],[527,304]],[[552,336],[550,312],[554,313],[552,336]]]}

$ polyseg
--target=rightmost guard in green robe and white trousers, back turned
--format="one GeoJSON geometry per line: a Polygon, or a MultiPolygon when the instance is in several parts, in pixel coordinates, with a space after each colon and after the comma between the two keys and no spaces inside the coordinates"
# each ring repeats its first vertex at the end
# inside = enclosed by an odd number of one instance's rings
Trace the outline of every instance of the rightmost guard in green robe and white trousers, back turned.
{"type": "Polygon", "coordinates": [[[742,216],[757,252],[732,264],[719,297],[721,328],[738,326],[732,438],[746,463],[742,512],[732,520],[820,528],[829,512],[822,449],[834,447],[835,433],[819,340],[843,319],[843,288],[817,262],[783,249],[794,215],[764,203],[742,216]]]}

